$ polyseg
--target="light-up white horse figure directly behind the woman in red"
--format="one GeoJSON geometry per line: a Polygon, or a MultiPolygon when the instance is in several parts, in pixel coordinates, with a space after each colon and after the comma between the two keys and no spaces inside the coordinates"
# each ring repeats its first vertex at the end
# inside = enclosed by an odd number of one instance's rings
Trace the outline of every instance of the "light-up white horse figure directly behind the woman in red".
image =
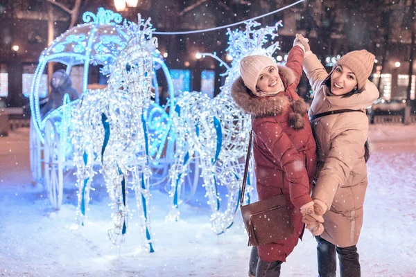
{"type": "MultiPolygon", "coordinates": [[[[170,216],[177,218],[180,204],[179,192],[187,175],[191,159],[199,159],[201,175],[207,190],[208,203],[212,210],[211,223],[215,233],[225,232],[234,222],[238,209],[240,186],[243,178],[243,159],[248,148],[248,133],[251,129],[251,118],[234,104],[230,96],[231,85],[239,77],[239,62],[245,55],[268,55],[278,48],[273,44],[262,48],[267,42],[266,36],[272,39],[277,36],[280,22],[273,27],[252,28],[257,22],[246,23],[245,31],[228,30],[229,55],[232,55],[232,66],[223,63],[216,55],[202,53],[216,58],[227,67],[224,86],[214,99],[198,92],[184,93],[177,99],[173,125],[176,130],[175,163],[171,168],[171,196],[173,211],[170,216]],[[227,186],[227,208],[220,210],[218,184],[227,186]]],[[[250,170],[251,171],[251,170],[250,170]]],[[[246,189],[250,193],[251,188],[246,189]]],[[[249,199],[250,197],[245,197],[249,199]]]]}

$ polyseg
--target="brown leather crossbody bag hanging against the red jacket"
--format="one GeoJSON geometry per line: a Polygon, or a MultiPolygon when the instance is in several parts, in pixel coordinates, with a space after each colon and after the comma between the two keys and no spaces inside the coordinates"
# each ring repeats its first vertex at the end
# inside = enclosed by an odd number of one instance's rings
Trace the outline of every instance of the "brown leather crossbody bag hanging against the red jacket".
{"type": "Polygon", "coordinates": [[[245,229],[248,233],[248,246],[258,246],[288,238],[288,236],[293,234],[294,229],[292,211],[286,203],[286,197],[283,195],[283,191],[281,195],[277,195],[270,199],[243,205],[252,148],[252,132],[253,131],[251,130],[247,157],[245,158],[240,208],[245,229]]]}

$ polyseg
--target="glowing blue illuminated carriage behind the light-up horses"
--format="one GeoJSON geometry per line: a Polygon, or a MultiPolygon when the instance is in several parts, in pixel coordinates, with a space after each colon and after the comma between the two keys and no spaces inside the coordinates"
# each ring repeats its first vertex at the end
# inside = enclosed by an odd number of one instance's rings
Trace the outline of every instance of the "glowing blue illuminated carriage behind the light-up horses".
{"type": "MultiPolygon", "coordinates": [[[[129,37],[128,24],[121,25],[121,15],[110,10],[98,9],[94,15],[85,12],[85,24],[80,24],[56,38],[42,55],[33,76],[29,95],[32,120],[30,132],[31,170],[33,181],[46,185],[53,208],[59,209],[62,204],[64,179],[75,169],[73,162],[73,145],[71,143],[71,114],[79,105],[79,100],[69,102],[64,97],[64,105],[42,116],[40,98],[47,96],[42,88],[42,74],[49,62],[58,62],[66,66],[71,74],[73,66],[83,66],[83,91],[87,91],[89,66],[101,65],[109,73],[110,64],[115,62],[117,53],[123,49],[129,37]]],[[[131,30],[130,30],[131,32],[131,30]]],[[[172,111],[166,113],[169,103],[175,101],[173,82],[168,68],[159,51],[153,53],[153,71],[162,70],[168,84],[170,99],[168,105],[161,107],[156,93],[155,100],[149,99],[146,110],[148,126],[149,155],[152,158],[152,183],[157,184],[168,177],[168,165],[173,155],[174,138],[169,139],[172,111]]],[[[153,87],[157,89],[158,80],[153,73],[153,87]]],[[[84,92],[85,93],[85,92],[84,92]]]]}

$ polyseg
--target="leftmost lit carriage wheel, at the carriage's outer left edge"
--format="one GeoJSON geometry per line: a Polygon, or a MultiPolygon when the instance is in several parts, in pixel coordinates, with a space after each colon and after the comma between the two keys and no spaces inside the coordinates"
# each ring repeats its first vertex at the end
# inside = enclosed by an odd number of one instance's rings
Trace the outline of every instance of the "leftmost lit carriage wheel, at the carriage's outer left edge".
{"type": "Polygon", "coordinates": [[[31,149],[31,171],[33,184],[42,182],[42,146],[36,129],[31,120],[30,131],[30,149],[31,149]]]}

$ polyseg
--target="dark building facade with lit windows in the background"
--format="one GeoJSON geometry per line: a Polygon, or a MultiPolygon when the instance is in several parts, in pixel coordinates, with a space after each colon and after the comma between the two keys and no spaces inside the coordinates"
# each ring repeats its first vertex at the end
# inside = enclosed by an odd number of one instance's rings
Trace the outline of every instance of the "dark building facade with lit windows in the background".
{"type": "MultiPolygon", "coordinates": [[[[56,0],[62,6],[73,8],[77,0],[56,0]]],[[[79,0],[78,0],[79,1],[79,0]]],[[[367,1],[304,1],[293,8],[259,19],[263,25],[282,20],[284,27],[277,40],[281,51],[277,60],[285,57],[293,45],[295,33],[309,37],[311,49],[330,70],[343,54],[366,48],[376,55],[373,79],[381,80],[380,90],[385,98],[406,97],[411,82],[411,98],[415,98],[415,74],[409,78],[410,47],[413,20],[412,1],[392,3],[388,0],[367,1]],[[350,3],[351,2],[351,3],[350,3]],[[371,3],[370,3],[371,2],[371,3]],[[381,78],[380,78],[381,77],[381,78]]],[[[48,45],[48,22],[53,18],[53,37],[64,33],[71,24],[71,16],[46,0],[6,0],[0,4],[0,107],[22,107],[28,104],[25,95],[30,93],[31,78],[40,53],[48,45]],[[5,2],[5,3],[3,3],[5,2]]],[[[224,26],[244,19],[263,15],[293,1],[197,1],[197,0],[139,0],[137,8],[120,11],[131,21],[151,17],[159,31],[199,30],[224,26]]],[[[86,11],[96,13],[99,6],[114,10],[114,0],[101,3],[81,0],[77,24],[82,23],[86,11]]],[[[243,26],[243,25],[241,25],[243,26]]],[[[158,35],[159,51],[172,69],[177,91],[204,91],[214,97],[219,93],[225,69],[215,60],[197,58],[198,52],[216,52],[227,61],[227,30],[216,30],[191,35],[158,35]]],[[[53,71],[58,68],[53,68],[53,71]]],[[[415,71],[416,72],[416,68],[415,71]]],[[[78,78],[74,71],[71,78],[78,78]]],[[[105,78],[99,69],[92,69],[90,82],[100,84],[105,78]]],[[[73,82],[76,84],[77,82],[73,82]]],[[[48,87],[44,72],[42,86],[48,87]]],[[[166,94],[166,84],[159,93],[166,94]]],[[[309,84],[304,78],[299,93],[309,97],[309,84]]],[[[80,91],[78,91],[80,93],[80,91]]]]}

